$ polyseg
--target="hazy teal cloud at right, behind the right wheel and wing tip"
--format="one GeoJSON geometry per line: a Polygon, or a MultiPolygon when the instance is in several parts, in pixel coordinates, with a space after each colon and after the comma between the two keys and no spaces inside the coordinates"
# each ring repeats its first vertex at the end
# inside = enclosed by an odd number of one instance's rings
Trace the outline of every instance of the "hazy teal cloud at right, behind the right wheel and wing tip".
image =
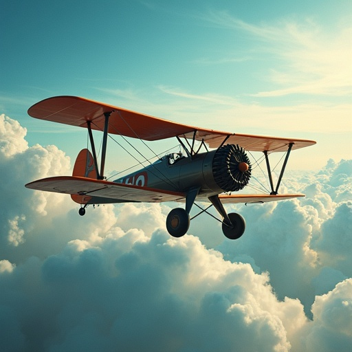
{"type": "Polygon", "coordinates": [[[329,161],[318,175],[287,179],[289,192],[300,189],[307,197],[241,208],[247,221],[245,236],[217,247],[226,259],[254,263],[259,272],[270,272],[278,297],[299,298],[309,317],[314,295],[321,294],[322,287],[332,289],[352,276],[351,201],[340,196],[341,190],[351,191],[349,165],[346,160],[329,161]],[[346,183],[336,184],[336,179],[346,183]]]}

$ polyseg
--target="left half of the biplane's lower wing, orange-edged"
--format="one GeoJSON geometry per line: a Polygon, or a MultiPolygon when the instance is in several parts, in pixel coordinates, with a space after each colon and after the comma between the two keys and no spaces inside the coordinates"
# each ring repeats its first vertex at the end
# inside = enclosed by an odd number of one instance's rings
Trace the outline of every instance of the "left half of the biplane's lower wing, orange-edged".
{"type": "MultiPolygon", "coordinates": [[[[78,203],[87,203],[90,197],[100,198],[99,203],[112,203],[113,201],[176,201],[186,196],[181,192],[156,190],[130,184],[117,184],[115,182],[78,176],[48,177],[30,182],[25,186],[34,190],[76,195],[83,197],[83,200],[87,200],[78,201],[78,203]]],[[[78,197],[73,197],[73,199],[76,200],[78,197]]]]}

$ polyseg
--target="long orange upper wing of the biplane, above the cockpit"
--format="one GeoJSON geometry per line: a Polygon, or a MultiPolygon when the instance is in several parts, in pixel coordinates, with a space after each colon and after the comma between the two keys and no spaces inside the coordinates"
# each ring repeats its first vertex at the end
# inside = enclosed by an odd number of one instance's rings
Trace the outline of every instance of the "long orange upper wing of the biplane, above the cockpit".
{"type": "Polygon", "coordinates": [[[312,140],[201,129],[75,96],[48,98],[37,102],[28,109],[28,114],[33,118],[72,126],[87,127],[87,121],[91,121],[91,128],[99,131],[104,129],[104,113],[110,112],[109,133],[141,138],[142,140],[163,140],[176,136],[188,139],[195,137],[197,141],[206,142],[210,148],[217,148],[223,143],[225,137],[229,136],[228,143],[239,144],[247,151],[287,151],[289,144],[293,144],[292,149],[316,144],[312,140]]]}

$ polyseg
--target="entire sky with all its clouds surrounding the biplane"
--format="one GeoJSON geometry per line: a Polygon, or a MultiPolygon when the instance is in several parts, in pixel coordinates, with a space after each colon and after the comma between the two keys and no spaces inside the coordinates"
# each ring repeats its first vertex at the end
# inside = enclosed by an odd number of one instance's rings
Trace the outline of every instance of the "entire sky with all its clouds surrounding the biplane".
{"type": "MultiPolygon", "coordinates": [[[[1,351],[351,351],[351,1],[0,3],[1,351]],[[28,116],[58,95],[316,140],[282,186],[307,196],[227,206],[237,241],[204,214],[171,238],[175,203],[79,217],[24,188],[87,144],[28,116]]],[[[110,141],[107,162],[135,163],[110,141]]]]}

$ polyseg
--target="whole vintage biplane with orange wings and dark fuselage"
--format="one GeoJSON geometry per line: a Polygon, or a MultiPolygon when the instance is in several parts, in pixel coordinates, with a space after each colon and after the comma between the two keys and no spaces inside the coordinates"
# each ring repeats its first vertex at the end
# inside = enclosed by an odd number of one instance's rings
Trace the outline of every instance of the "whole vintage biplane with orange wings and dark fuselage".
{"type": "MultiPolygon", "coordinates": [[[[80,151],[72,176],[39,179],[26,184],[27,188],[71,195],[80,204],[80,215],[85,214],[87,206],[104,203],[184,203],[184,206],[171,210],[166,218],[166,228],[175,237],[186,234],[190,210],[196,200],[210,203],[208,208],[214,206],[221,216],[219,221],[223,234],[229,239],[238,239],[245,231],[245,220],[240,214],[226,212],[223,204],[264,203],[304,197],[301,194],[278,194],[278,189],[290,152],[316,143],[202,129],[75,96],[47,98],[30,107],[28,114],[41,120],[86,128],[91,151],[88,148],[80,151]],[[96,153],[94,130],[102,131],[100,160],[96,153]],[[163,155],[136,172],[108,181],[104,167],[107,140],[111,134],[144,141],[175,137],[181,146],[180,152],[163,155]],[[252,164],[248,152],[252,151],[264,155],[270,182],[267,194],[237,193],[250,181],[252,164]],[[270,153],[274,152],[286,153],[276,184],[269,159],[270,153]]],[[[208,208],[199,208],[201,212],[210,214],[208,208]]]]}

